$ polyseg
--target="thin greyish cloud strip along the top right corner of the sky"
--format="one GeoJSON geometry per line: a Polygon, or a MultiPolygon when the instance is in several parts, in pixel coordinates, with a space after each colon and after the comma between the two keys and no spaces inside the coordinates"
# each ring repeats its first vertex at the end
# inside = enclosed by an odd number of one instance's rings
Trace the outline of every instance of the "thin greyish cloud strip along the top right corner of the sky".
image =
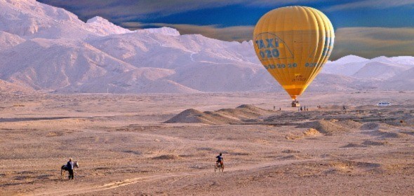
{"type": "Polygon", "coordinates": [[[355,8],[386,9],[400,6],[414,5],[414,0],[363,0],[352,3],[342,3],[328,8],[329,11],[347,10],[355,8]]]}

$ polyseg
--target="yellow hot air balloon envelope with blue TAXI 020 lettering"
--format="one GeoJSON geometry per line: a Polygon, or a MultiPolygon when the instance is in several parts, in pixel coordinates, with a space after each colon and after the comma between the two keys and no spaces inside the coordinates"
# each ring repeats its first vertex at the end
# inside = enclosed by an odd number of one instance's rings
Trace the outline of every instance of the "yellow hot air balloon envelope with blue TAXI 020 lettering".
{"type": "Polygon", "coordinates": [[[321,71],[334,38],[326,15],[304,6],[269,11],[253,33],[260,62],[294,100],[321,71]]]}

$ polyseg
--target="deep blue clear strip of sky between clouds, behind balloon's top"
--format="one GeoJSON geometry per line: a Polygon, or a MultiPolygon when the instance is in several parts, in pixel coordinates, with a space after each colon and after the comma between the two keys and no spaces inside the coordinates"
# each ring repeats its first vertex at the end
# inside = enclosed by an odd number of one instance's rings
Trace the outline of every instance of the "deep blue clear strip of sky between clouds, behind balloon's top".
{"type": "MultiPolygon", "coordinates": [[[[414,7],[401,6],[397,8],[354,8],[347,10],[330,10],[328,3],[299,3],[322,10],[335,28],[340,27],[413,27],[414,7]],[[405,15],[401,15],[405,13],[405,15]]],[[[287,5],[295,5],[288,3],[287,5]]],[[[238,25],[255,25],[262,15],[273,8],[252,7],[243,5],[224,6],[220,8],[204,8],[189,10],[183,13],[167,15],[159,18],[142,18],[139,22],[191,24],[191,25],[220,25],[231,27],[238,25]]]]}

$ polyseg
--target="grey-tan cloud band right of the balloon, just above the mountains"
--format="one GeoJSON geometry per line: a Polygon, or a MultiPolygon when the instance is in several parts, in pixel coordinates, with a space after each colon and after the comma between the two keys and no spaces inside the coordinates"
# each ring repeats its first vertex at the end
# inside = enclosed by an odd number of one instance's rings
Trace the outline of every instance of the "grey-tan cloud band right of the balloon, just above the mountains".
{"type": "Polygon", "coordinates": [[[414,28],[352,27],[335,33],[331,58],[345,55],[361,57],[402,56],[414,54],[414,28]]]}

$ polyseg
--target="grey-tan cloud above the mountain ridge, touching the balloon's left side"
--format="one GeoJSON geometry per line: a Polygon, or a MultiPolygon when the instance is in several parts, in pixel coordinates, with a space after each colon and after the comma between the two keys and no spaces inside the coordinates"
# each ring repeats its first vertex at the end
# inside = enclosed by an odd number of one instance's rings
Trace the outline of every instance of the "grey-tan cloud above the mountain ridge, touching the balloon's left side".
{"type": "Polygon", "coordinates": [[[224,41],[248,41],[253,36],[253,26],[219,27],[218,25],[175,25],[164,23],[142,24],[140,22],[123,22],[128,29],[142,29],[146,27],[172,27],[178,29],[180,34],[202,34],[209,38],[224,41]]]}

